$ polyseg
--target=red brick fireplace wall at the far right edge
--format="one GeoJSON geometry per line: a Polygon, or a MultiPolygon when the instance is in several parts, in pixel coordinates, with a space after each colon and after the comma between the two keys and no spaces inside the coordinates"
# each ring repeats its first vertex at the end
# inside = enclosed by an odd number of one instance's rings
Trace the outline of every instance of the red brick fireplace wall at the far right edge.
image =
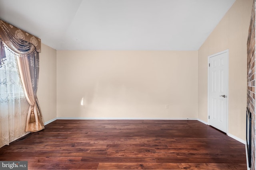
{"type": "Polygon", "coordinates": [[[252,166],[255,167],[255,1],[253,2],[247,41],[247,107],[252,113],[252,166]]]}

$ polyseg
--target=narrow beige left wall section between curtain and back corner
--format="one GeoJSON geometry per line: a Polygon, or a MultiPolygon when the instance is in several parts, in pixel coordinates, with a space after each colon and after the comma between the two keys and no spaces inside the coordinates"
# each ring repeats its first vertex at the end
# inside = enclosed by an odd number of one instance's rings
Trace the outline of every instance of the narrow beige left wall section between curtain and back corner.
{"type": "Polygon", "coordinates": [[[38,80],[38,101],[44,121],[56,118],[56,50],[42,44],[38,80]]]}

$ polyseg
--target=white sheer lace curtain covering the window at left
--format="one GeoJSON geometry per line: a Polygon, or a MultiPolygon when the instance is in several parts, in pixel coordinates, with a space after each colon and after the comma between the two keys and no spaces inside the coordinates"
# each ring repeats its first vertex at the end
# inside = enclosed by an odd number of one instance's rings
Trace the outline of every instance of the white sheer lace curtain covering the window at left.
{"type": "Polygon", "coordinates": [[[0,68],[0,147],[26,135],[29,104],[18,75],[16,57],[19,54],[6,45],[6,61],[0,68]]]}

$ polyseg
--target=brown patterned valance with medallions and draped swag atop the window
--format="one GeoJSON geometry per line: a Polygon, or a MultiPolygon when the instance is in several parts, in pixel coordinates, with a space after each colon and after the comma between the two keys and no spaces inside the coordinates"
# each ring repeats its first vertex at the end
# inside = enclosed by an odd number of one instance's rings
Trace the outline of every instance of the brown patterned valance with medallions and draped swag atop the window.
{"type": "Polygon", "coordinates": [[[41,52],[41,39],[3,20],[0,20],[0,38],[16,53],[28,53],[34,47],[38,53],[41,52]]]}

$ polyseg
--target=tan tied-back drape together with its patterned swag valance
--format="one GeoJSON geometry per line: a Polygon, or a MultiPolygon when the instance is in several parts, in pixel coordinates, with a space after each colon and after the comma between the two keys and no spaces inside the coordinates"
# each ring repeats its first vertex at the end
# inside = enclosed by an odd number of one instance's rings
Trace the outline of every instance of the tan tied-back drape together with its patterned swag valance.
{"type": "MultiPolygon", "coordinates": [[[[26,99],[30,104],[26,131],[40,131],[44,129],[43,117],[36,97],[39,71],[38,53],[41,52],[40,39],[2,20],[0,20],[0,39],[10,49],[20,54],[20,57],[17,57],[18,70],[26,99]]],[[[4,54],[2,49],[0,52],[4,54]]],[[[1,53],[2,63],[5,61],[5,55],[1,53]]]]}

